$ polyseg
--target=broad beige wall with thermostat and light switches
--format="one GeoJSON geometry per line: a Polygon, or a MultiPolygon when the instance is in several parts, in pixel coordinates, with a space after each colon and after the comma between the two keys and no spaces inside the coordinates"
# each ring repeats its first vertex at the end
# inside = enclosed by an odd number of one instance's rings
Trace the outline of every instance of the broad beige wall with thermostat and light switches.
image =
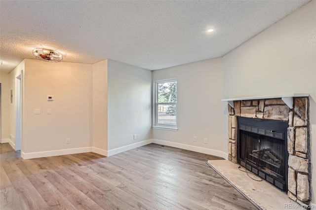
{"type": "Polygon", "coordinates": [[[24,153],[92,146],[92,65],[26,59],[24,90],[24,153]]]}

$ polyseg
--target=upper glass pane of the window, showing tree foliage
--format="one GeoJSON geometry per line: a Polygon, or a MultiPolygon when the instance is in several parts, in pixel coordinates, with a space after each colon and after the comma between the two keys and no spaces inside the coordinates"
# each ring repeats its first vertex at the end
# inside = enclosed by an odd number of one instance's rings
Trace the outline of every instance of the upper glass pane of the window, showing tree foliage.
{"type": "Polygon", "coordinates": [[[177,102],[177,82],[158,83],[158,103],[177,102]]]}

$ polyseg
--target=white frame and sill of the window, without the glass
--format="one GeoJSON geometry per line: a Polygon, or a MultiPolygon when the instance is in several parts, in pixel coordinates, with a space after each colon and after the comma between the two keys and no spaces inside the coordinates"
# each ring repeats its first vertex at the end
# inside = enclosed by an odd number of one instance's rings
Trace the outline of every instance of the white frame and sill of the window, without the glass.
{"type": "Polygon", "coordinates": [[[177,78],[157,80],[154,82],[154,100],[153,100],[153,128],[169,131],[178,131],[178,81],[177,78]],[[166,82],[177,82],[177,102],[175,103],[158,103],[158,84],[166,82]],[[158,123],[158,105],[176,105],[176,124],[166,125],[158,123]]]}

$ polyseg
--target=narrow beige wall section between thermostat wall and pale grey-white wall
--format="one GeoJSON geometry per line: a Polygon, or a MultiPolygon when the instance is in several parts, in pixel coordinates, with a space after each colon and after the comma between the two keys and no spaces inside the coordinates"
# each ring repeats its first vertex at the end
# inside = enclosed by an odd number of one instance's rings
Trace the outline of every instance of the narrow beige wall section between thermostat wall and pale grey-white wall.
{"type": "Polygon", "coordinates": [[[93,143],[108,150],[108,60],[93,64],[93,143]]]}

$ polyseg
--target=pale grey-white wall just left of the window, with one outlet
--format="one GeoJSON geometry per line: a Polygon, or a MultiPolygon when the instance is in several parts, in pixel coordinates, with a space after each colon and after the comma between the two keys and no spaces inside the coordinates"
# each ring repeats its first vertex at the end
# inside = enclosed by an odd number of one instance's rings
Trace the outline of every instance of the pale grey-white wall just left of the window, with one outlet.
{"type": "Polygon", "coordinates": [[[108,60],[109,150],[152,139],[151,102],[150,70],[108,60]]]}

